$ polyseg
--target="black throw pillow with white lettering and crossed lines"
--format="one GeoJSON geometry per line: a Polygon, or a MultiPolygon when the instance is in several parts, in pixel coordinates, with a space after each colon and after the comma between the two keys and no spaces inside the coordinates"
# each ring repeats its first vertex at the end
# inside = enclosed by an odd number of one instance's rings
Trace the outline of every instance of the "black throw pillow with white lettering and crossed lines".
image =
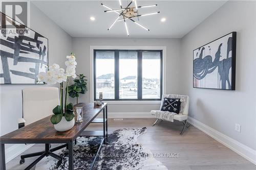
{"type": "Polygon", "coordinates": [[[164,98],[161,111],[169,111],[169,112],[174,112],[179,114],[180,105],[181,105],[180,99],[164,98]]]}

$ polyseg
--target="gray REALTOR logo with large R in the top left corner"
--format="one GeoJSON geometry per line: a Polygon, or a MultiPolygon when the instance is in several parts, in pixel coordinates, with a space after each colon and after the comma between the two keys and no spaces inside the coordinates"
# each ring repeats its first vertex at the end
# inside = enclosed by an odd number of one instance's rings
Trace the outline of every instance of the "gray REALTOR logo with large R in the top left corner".
{"type": "Polygon", "coordinates": [[[1,11],[3,36],[29,34],[29,1],[1,1],[1,11]]]}

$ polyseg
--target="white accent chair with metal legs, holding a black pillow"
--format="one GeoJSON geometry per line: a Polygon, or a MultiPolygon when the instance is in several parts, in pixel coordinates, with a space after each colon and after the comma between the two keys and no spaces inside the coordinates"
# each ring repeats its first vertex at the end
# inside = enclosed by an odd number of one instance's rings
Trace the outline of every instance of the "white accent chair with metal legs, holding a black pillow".
{"type": "Polygon", "coordinates": [[[180,106],[180,113],[173,115],[174,120],[178,120],[179,122],[183,123],[183,128],[180,133],[182,135],[186,128],[186,124],[187,124],[187,115],[188,115],[188,109],[189,109],[189,96],[181,95],[181,94],[163,94],[160,109],[151,111],[151,114],[155,115],[155,117],[157,118],[156,122],[152,126],[156,125],[156,123],[158,122],[159,119],[170,121],[169,119],[167,119],[168,115],[167,116],[163,115],[163,114],[166,114],[166,111],[160,111],[162,108],[162,105],[163,105],[164,98],[182,99],[181,106],[180,106]],[[160,116],[157,116],[156,112],[159,112],[159,111],[160,111],[160,116]]]}

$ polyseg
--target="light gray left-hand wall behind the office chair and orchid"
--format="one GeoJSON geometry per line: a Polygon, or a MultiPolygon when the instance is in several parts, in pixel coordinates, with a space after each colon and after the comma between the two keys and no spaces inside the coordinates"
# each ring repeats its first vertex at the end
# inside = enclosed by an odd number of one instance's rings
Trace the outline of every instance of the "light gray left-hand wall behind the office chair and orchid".
{"type": "MultiPolygon", "coordinates": [[[[32,3],[30,28],[49,39],[49,62],[62,63],[72,50],[72,37],[43,14],[32,3]]],[[[22,117],[22,89],[42,85],[1,85],[1,136],[18,128],[17,119],[22,117]]]]}

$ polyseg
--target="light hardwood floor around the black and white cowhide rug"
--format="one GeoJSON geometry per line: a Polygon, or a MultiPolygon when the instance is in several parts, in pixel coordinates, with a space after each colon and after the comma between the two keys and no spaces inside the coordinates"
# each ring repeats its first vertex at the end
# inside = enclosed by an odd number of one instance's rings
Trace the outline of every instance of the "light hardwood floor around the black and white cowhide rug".
{"type": "MultiPolygon", "coordinates": [[[[253,170],[256,165],[231,151],[220,142],[209,137],[197,128],[190,126],[180,135],[180,122],[161,122],[152,127],[153,118],[124,118],[122,121],[109,119],[109,132],[120,128],[146,127],[147,133],[139,137],[139,142],[149,148],[153,154],[179,154],[179,158],[161,158],[168,169],[172,170],[253,170]]],[[[88,130],[101,130],[101,124],[94,124],[88,130]]],[[[38,152],[44,145],[35,144],[25,153],[38,152]]],[[[35,160],[27,158],[19,165],[19,156],[7,163],[7,169],[24,169],[35,160]]],[[[33,168],[32,168],[33,169],[33,168]]]]}

